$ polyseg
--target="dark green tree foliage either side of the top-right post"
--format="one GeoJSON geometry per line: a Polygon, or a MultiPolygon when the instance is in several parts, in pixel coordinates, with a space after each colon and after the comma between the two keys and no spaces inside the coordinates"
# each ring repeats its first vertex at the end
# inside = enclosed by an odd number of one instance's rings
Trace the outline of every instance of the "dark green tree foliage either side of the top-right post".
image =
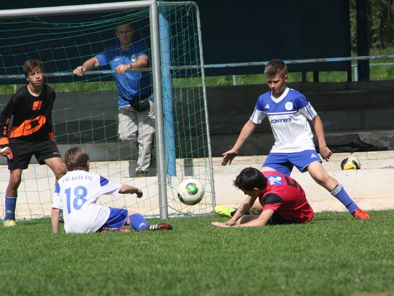
{"type": "MultiPolygon", "coordinates": [[[[394,0],[368,1],[369,45],[372,49],[394,46],[394,0]]],[[[350,0],[352,50],[357,50],[356,0],[350,0]]]]}

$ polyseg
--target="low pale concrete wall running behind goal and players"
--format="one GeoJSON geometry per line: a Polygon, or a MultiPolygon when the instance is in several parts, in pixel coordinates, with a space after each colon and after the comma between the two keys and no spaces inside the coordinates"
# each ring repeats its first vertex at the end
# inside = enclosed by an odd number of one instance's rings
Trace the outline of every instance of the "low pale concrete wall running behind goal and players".
{"type": "MultiPolygon", "coordinates": [[[[394,209],[394,151],[356,152],[353,155],[361,162],[360,170],[340,170],[341,160],[349,153],[335,153],[329,162],[323,166],[328,174],[337,179],[356,201],[366,210],[394,209]]],[[[216,203],[229,206],[238,206],[244,199],[242,191],[236,189],[232,183],[239,172],[245,167],[261,168],[266,156],[237,156],[229,166],[221,166],[220,157],[213,158],[214,186],[216,203]]],[[[180,167],[177,160],[177,166],[180,167]]],[[[100,197],[99,203],[112,207],[127,207],[138,209],[144,215],[159,214],[158,181],[155,175],[147,178],[132,178],[130,175],[130,161],[92,162],[91,171],[99,173],[117,183],[127,183],[137,186],[144,192],[144,198],[137,200],[135,195],[111,198],[100,197]]],[[[175,213],[182,205],[174,194],[177,185],[185,176],[203,174],[204,169],[198,172],[198,160],[194,167],[188,168],[194,171],[187,174],[186,169],[177,170],[178,178],[173,179],[172,186],[167,186],[169,213],[175,213]]],[[[4,194],[8,184],[8,170],[5,165],[0,165],[0,218],[4,215],[4,194]]],[[[308,173],[301,174],[296,169],[292,177],[304,188],[306,197],[315,212],[321,211],[346,211],[345,207],[329,194],[327,190],[316,184],[308,173]]],[[[31,218],[49,216],[53,199],[54,176],[47,166],[30,165],[23,172],[22,183],[19,188],[17,215],[19,218],[31,218]]],[[[209,184],[204,185],[206,192],[211,192],[209,184]]],[[[208,194],[206,194],[207,197],[208,194]]],[[[213,210],[211,200],[207,197],[204,202],[196,206],[196,210],[213,210]]],[[[194,208],[186,212],[193,212],[194,208]]],[[[372,215],[371,215],[372,216],[372,215]]],[[[373,217],[372,217],[373,219],[373,217]]]]}

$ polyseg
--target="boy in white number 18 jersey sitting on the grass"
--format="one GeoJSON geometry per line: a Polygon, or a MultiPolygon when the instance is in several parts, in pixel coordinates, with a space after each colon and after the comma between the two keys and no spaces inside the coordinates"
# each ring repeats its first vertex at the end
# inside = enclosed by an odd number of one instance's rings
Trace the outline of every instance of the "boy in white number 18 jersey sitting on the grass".
{"type": "Polygon", "coordinates": [[[149,225],[142,215],[133,210],[108,208],[97,205],[103,194],[133,194],[142,197],[141,189],[112,183],[99,174],[89,173],[89,155],[79,147],[65,153],[68,173],[55,186],[52,204],[52,230],[59,233],[59,214],[63,210],[64,226],[67,233],[89,233],[101,230],[125,232],[131,225],[137,231],[170,230],[169,224],[149,225]]]}

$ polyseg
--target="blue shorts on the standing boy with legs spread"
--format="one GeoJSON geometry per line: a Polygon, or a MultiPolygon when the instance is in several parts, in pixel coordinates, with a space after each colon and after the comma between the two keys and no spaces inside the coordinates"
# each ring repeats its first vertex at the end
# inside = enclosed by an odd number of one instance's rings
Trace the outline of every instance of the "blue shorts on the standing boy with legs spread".
{"type": "Polygon", "coordinates": [[[305,172],[312,162],[322,162],[316,150],[304,150],[292,153],[269,153],[263,163],[263,167],[270,167],[275,171],[290,176],[293,167],[301,172],[305,172]]]}

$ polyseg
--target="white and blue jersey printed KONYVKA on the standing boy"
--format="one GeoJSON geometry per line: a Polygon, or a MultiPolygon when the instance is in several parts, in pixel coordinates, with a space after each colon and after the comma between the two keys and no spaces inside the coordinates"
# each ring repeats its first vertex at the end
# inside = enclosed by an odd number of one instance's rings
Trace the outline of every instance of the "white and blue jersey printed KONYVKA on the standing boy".
{"type": "Polygon", "coordinates": [[[291,153],[315,149],[308,119],[316,114],[303,94],[287,87],[279,98],[262,94],[250,120],[259,124],[267,116],[275,137],[271,152],[291,153]]]}

